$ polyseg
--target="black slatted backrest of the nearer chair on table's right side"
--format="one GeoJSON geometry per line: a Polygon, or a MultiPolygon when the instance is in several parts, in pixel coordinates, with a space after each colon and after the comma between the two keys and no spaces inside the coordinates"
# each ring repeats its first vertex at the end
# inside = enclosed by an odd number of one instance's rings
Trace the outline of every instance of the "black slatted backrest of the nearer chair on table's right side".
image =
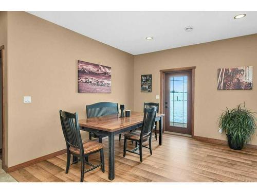
{"type": "Polygon", "coordinates": [[[155,124],[156,112],[156,107],[144,109],[143,127],[140,133],[140,140],[142,140],[143,137],[147,137],[151,134],[155,124]]]}

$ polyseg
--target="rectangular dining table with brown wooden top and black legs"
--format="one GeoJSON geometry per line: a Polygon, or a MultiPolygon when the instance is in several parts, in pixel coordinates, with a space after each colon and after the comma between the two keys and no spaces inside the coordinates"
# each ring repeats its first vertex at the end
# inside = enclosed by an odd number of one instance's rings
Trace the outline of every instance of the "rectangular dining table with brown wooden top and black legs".
{"type": "MultiPolygon", "coordinates": [[[[119,114],[108,115],[103,117],[93,117],[80,119],[79,125],[81,130],[88,132],[98,132],[105,136],[108,136],[109,146],[109,180],[115,178],[115,146],[114,136],[123,132],[129,132],[133,129],[142,127],[143,112],[131,112],[130,117],[120,118],[119,114]]],[[[157,113],[155,121],[159,122],[159,145],[162,145],[162,127],[163,127],[164,114],[157,113]]],[[[157,127],[157,126],[156,126],[157,127]]]]}

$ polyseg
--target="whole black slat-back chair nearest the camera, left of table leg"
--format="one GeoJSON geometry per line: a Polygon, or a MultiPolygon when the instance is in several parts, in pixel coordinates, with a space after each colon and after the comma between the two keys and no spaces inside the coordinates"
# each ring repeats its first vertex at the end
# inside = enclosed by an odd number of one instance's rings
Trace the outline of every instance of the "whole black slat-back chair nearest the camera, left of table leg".
{"type": "Polygon", "coordinates": [[[67,165],[65,173],[68,173],[69,171],[70,154],[73,155],[72,164],[76,164],[79,161],[81,161],[80,182],[84,181],[84,173],[91,171],[99,166],[101,166],[102,172],[104,172],[104,146],[101,143],[91,140],[82,142],[80,135],[78,113],[72,114],[60,110],[60,119],[67,147],[67,165]],[[88,162],[88,155],[96,152],[100,152],[101,164],[93,165],[88,162]],[[88,170],[85,170],[85,164],[88,164],[92,167],[88,170]]]}

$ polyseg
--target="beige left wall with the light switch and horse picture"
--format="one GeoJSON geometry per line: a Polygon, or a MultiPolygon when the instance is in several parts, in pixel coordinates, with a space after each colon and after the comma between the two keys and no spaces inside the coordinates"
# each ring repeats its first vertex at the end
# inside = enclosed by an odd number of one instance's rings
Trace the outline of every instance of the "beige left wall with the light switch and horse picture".
{"type": "Polygon", "coordinates": [[[59,110],[133,107],[133,55],[26,12],[8,12],[8,167],[64,149],[59,110]],[[77,92],[77,60],[112,67],[111,94],[77,92]],[[31,96],[32,103],[23,103],[31,96]]]}

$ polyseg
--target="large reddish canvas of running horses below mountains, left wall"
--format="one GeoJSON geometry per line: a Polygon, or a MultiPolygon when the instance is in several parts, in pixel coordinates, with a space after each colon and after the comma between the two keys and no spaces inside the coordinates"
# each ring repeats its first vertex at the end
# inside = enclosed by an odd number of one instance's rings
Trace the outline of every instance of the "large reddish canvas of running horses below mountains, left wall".
{"type": "Polygon", "coordinates": [[[111,93],[111,67],[78,61],[79,93],[111,93]]]}

